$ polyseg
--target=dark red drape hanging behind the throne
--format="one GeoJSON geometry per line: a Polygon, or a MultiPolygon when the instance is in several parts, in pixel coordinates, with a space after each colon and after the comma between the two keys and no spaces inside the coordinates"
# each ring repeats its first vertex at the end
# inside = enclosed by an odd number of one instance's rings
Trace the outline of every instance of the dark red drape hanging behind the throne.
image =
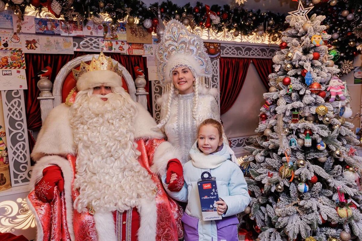
{"type": "MultiPolygon", "coordinates": [[[[41,128],[41,112],[40,104],[37,97],[39,96],[39,89],[37,82],[39,77],[32,79],[37,72],[42,70],[50,64],[52,67],[52,74],[50,81],[54,82],[54,79],[60,69],[68,63],[70,60],[75,59],[78,56],[86,54],[97,54],[92,52],[74,52],[73,55],[53,55],[53,54],[29,54],[25,53],[26,61],[26,79],[28,81],[28,90],[24,90],[25,94],[25,108],[26,108],[26,120],[28,129],[37,130],[41,128]]],[[[98,53],[99,54],[99,53],[98,53]]],[[[117,53],[105,53],[106,56],[112,57],[112,59],[118,61],[120,64],[130,72],[131,76],[135,79],[134,64],[139,66],[147,73],[147,60],[146,57],[139,55],[121,55],[117,53]]],[[[147,79],[147,76],[146,76],[147,79]]],[[[148,91],[148,85],[146,85],[148,91]]],[[[150,101],[148,101],[150,103],[150,101]]],[[[152,106],[152,105],[151,105],[152,106]]]]}

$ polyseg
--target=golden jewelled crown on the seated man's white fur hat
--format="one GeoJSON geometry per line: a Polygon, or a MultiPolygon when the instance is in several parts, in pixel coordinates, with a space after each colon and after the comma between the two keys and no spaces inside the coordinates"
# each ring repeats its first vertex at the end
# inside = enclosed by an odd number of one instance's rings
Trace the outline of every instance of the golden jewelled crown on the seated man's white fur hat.
{"type": "Polygon", "coordinates": [[[79,70],[73,69],[73,76],[77,81],[82,74],[94,70],[111,70],[122,76],[122,70],[118,69],[118,63],[113,64],[111,57],[106,57],[103,52],[99,54],[98,59],[93,56],[89,65],[81,61],[79,70]]]}

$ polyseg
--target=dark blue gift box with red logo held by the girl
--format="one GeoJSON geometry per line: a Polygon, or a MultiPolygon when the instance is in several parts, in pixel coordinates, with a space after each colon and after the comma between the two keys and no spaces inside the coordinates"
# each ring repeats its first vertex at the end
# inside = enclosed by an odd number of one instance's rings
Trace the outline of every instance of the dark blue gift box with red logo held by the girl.
{"type": "Polygon", "coordinates": [[[197,186],[199,189],[202,219],[204,221],[222,219],[222,216],[216,211],[218,206],[216,202],[219,201],[216,178],[211,177],[210,172],[203,172],[201,178],[197,181],[197,186]],[[205,177],[205,174],[208,177],[205,177]]]}

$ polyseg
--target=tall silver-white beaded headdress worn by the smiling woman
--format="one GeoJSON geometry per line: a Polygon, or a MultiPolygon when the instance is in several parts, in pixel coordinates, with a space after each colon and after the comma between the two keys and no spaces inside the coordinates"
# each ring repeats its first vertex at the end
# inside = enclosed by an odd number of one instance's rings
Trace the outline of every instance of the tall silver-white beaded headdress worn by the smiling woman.
{"type": "Polygon", "coordinates": [[[181,22],[168,22],[156,56],[157,75],[163,87],[172,82],[172,71],[179,67],[189,68],[201,85],[208,85],[212,75],[210,57],[202,39],[190,33],[181,22]]]}

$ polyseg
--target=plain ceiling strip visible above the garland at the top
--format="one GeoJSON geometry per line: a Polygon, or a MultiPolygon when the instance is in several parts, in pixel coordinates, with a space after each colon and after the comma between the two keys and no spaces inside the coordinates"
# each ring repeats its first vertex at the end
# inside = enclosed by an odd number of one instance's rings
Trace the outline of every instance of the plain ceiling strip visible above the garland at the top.
{"type": "MultiPolygon", "coordinates": [[[[157,0],[142,1],[146,5],[150,5],[151,3],[155,3],[157,0]]],[[[219,4],[221,6],[229,4],[231,7],[239,6],[239,4],[235,3],[235,0],[172,0],[172,2],[177,5],[185,5],[186,3],[190,2],[191,6],[195,6],[197,1],[210,6],[213,4],[219,4]]],[[[162,0],[160,2],[162,2],[162,0]]],[[[287,13],[296,10],[298,7],[298,2],[292,0],[247,0],[247,2],[241,6],[247,9],[261,9],[264,11],[287,13]]]]}

